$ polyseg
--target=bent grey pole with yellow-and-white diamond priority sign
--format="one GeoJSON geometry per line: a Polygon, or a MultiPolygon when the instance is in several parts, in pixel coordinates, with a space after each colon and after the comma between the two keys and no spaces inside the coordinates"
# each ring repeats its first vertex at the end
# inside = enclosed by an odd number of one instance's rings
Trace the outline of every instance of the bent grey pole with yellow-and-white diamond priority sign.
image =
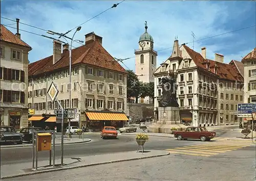
{"type": "Polygon", "coordinates": [[[54,100],[57,101],[60,109],[61,109],[61,153],[60,153],[60,165],[63,165],[63,143],[64,143],[64,135],[63,135],[63,130],[64,130],[64,109],[62,108],[57,95],[58,95],[59,91],[57,89],[57,86],[52,82],[52,84],[50,85],[47,94],[49,95],[49,97],[51,98],[51,101],[54,102],[54,100]]]}

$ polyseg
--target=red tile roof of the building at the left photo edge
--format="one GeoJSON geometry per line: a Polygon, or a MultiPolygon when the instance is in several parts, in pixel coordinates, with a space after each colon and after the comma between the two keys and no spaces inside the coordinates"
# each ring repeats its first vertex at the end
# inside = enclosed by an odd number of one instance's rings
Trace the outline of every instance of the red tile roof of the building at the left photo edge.
{"type": "Polygon", "coordinates": [[[11,31],[9,31],[3,24],[1,24],[1,41],[7,41],[11,43],[15,43],[18,45],[23,45],[31,48],[27,43],[22,41],[20,38],[18,38],[16,35],[14,35],[11,31]]]}

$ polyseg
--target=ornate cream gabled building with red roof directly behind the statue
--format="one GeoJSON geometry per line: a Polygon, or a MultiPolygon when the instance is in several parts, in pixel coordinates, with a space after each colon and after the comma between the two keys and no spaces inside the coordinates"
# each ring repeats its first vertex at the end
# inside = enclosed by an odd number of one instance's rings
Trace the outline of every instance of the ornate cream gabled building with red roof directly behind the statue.
{"type": "Polygon", "coordinates": [[[170,75],[176,77],[182,123],[193,126],[238,123],[236,109],[243,98],[243,76],[236,67],[223,62],[224,57],[219,54],[215,60],[207,59],[205,47],[199,54],[185,44],[180,47],[175,40],[172,56],[154,73],[155,113],[162,94],[161,77],[170,75]],[[232,89],[228,89],[231,85],[232,89]],[[234,89],[235,85],[238,88],[234,89]]]}

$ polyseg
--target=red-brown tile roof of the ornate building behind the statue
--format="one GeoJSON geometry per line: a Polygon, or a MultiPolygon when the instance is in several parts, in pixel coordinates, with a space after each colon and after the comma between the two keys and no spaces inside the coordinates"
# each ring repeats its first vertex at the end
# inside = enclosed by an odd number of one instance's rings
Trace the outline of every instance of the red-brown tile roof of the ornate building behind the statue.
{"type": "Polygon", "coordinates": [[[183,46],[187,51],[188,55],[191,57],[191,59],[195,62],[195,64],[198,67],[206,70],[206,63],[209,62],[211,73],[215,73],[215,65],[217,65],[217,75],[220,77],[220,79],[244,82],[244,78],[240,74],[236,66],[232,66],[230,64],[225,64],[221,62],[216,62],[210,59],[204,59],[201,54],[197,53],[193,49],[190,49],[186,45],[183,45],[183,46]]]}

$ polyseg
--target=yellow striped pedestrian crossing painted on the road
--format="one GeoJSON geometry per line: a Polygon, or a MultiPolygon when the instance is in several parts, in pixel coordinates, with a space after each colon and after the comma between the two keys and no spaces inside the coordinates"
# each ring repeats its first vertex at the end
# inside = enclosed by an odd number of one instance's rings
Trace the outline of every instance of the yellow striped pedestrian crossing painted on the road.
{"type": "Polygon", "coordinates": [[[166,149],[170,153],[174,154],[187,154],[190,156],[200,156],[200,157],[211,157],[217,154],[224,153],[227,151],[233,151],[241,148],[250,146],[251,143],[247,142],[232,142],[232,141],[214,141],[206,142],[197,145],[188,145],[176,148],[166,149]]]}

